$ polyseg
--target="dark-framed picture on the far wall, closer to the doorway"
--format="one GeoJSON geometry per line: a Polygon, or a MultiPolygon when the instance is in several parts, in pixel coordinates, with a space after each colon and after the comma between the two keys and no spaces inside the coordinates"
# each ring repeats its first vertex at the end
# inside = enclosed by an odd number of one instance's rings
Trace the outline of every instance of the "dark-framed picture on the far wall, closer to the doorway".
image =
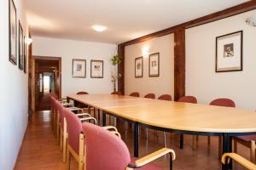
{"type": "Polygon", "coordinates": [[[86,60],[85,59],[73,59],[72,64],[72,77],[85,78],[86,77],[86,60]]]}

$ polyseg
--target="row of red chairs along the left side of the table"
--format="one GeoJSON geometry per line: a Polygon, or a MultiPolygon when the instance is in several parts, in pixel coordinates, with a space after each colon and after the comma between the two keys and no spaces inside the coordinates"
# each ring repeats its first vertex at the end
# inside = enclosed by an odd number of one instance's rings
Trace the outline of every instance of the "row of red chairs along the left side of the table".
{"type": "Polygon", "coordinates": [[[162,148],[141,159],[134,159],[121,139],[116,127],[96,126],[96,119],[67,100],[50,95],[52,127],[63,152],[62,161],[70,168],[70,158],[79,163],[81,169],[159,169],[151,161],[170,155],[170,169],[175,152],[162,148]],[[90,123],[92,121],[93,123],[90,123]]]}

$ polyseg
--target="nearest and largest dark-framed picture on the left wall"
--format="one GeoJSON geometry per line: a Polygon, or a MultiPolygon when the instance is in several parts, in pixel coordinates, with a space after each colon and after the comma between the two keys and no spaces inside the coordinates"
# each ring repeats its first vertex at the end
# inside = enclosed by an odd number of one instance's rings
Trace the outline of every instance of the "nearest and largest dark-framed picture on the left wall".
{"type": "Polygon", "coordinates": [[[9,61],[17,64],[17,19],[13,0],[9,0],[9,61]]]}

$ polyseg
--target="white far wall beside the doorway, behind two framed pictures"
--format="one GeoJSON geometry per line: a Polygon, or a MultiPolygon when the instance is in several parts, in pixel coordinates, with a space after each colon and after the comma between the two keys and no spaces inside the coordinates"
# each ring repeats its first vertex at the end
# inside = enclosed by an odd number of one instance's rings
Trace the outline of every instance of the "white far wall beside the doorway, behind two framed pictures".
{"type": "Polygon", "coordinates": [[[110,94],[111,58],[116,54],[114,44],[82,42],[49,37],[32,37],[32,54],[35,56],[61,57],[62,96],[86,91],[89,94],[110,94]],[[86,78],[72,77],[73,59],[86,59],[86,78]],[[90,78],[90,59],[104,60],[103,78],[90,78]]]}

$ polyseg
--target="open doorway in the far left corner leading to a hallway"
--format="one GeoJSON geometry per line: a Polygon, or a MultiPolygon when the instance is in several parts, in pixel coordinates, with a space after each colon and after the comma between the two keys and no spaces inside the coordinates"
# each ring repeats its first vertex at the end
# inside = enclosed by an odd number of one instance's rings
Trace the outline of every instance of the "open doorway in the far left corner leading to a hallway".
{"type": "Polygon", "coordinates": [[[35,108],[49,111],[49,94],[61,97],[61,58],[33,57],[35,59],[35,108]]]}

